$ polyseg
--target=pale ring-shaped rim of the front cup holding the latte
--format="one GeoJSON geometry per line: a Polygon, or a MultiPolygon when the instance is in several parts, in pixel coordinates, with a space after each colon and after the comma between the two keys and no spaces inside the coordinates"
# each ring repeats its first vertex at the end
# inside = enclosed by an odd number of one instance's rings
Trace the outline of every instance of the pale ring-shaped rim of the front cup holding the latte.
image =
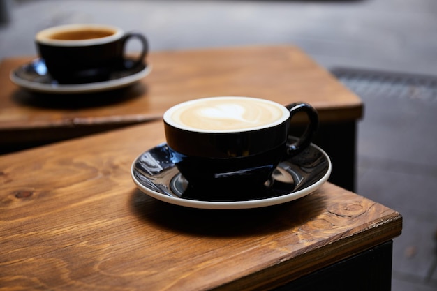
{"type": "Polygon", "coordinates": [[[183,103],[179,103],[177,105],[174,105],[170,107],[168,110],[166,110],[163,114],[163,120],[166,124],[169,126],[172,126],[174,128],[179,128],[181,130],[186,130],[193,133],[244,133],[254,130],[262,130],[265,128],[272,128],[274,126],[279,126],[280,124],[283,124],[284,121],[287,121],[290,117],[290,111],[283,105],[276,103],[272,100],[262,99],[262,98],[255,98],[255,97],[244,97],[244,96],[216,96],[216,97],[206,97],[206,98],[198,98],[193,100],[188,100],[183,103]],[[197,103],[199,100],[217,100],[217,99],[244,99],[244,100],[256,100],[258,102],[272,104],[278,108],[281,109],[283,114],[281,117],[276,119],[275,121],[270,122],[269,124],[263,124],[261,126],[253,126],[249,128],[238,128],[238,129],[202,129],[202,128],[193,128],[191,126],[184,126],[182,124],[177,124],[175,121],[172,120],[171,116],[172,113],[175,112],[175,110],[178,110],[180,107],[184,107],[186,105],[190,105],[193,103],[197,103]]]}

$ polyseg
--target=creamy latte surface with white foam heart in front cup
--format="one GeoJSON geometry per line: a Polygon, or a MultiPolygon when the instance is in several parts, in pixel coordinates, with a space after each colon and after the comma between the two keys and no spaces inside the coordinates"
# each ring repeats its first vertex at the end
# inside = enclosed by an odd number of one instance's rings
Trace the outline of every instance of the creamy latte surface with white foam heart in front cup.
{"type": "Polygon", "coordinates": [[[212,97],[191,100],[170,108],[164,119],[178,128],[200,132],[237,132],[281,124],[286,107],[249,97],[212,97]]]}

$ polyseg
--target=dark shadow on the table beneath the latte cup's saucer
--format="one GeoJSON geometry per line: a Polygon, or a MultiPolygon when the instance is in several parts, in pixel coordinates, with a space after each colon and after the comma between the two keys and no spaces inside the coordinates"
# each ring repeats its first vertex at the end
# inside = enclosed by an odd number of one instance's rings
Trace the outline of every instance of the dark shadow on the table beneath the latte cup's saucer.
{"type": "Polygon", "coordinates": [[[155,200],[135,190],[131,207],[142,220],[172,231],[209,237],[250,236],[290,230],[326,209],[317,192],[272,207],[237,210],[194,209],[155,200]]]}

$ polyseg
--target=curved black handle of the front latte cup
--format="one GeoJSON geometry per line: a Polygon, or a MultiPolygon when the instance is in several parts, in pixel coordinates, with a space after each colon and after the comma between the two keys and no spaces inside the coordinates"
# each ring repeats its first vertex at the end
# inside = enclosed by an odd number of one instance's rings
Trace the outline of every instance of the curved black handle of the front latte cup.
{"type": "Polygon", "coordinates": [[[313,135],[318,129],[318,113],[317,110],[308,103],[292,103],[286,107],[290,111],[290,121],[297,112],[305,112],[309,118],[309,124],[306,126],[306,129],[299,140],[293,144],[287,144],[286,156],[290,158],[291,156],[299,154],[299,152],[303,151],[309,146],[309,144],[311,144],[313,135]]]}

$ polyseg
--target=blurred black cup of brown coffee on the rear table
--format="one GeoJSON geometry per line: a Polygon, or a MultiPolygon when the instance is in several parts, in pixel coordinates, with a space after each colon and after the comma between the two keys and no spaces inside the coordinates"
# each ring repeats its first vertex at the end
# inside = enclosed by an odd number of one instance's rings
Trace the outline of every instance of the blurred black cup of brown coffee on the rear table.
{"type": "Polygon", "coordinates": [[[44,29],[35,38],[38,54],[48,73],[59,84],[108,80],[116,70],[142,64],[148,52],[147,38],[141,33],[124,33],[119,27],[102,24],[70,24],[44,29]],[[142,45],[139,56],[128,59],[128,40],[142,45]]]}

